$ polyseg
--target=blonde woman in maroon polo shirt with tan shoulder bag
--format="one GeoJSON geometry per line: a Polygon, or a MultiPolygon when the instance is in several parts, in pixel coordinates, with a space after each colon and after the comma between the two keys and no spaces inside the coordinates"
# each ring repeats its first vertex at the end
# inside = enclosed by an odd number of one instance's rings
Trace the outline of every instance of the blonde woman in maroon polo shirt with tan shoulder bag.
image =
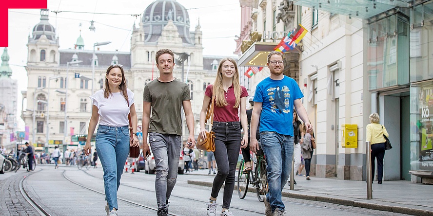
{"type": "Polygon", "coordinates": [[[225,181],[221,216],[233,216],[230,209],[233,189],[235,187],[235,171],[240,146],[248,144],[248,123],[246,103],[248,92],[239,84],[239,72],[236,61],[223,58],[219,62],[214,85],[209,85],[204,92],[203,107],[200,112],[200,136],[206,138],[204,121],[206,109],[215,95],[214,125],[215,132],[215,160],[218,164],[218,174],[214,179],[211,197],[207,203],[207,215],[216,216],[216,197],[225,181]],[[240,108],[240,122],[246,132],[243,138],[240,133],[238,110],[240,108]]]}

